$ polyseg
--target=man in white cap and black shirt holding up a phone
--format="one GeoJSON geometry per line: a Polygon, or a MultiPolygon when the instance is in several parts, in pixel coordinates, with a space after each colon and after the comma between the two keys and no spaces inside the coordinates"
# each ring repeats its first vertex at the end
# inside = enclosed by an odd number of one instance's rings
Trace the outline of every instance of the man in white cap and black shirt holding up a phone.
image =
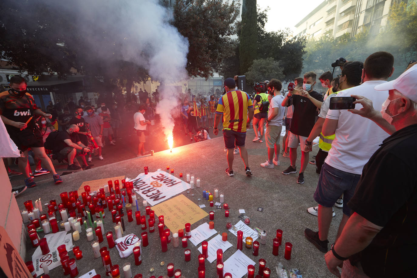
{"type": "Polygon", "coordinates": [[[389,90],[381,112],[359,95],[361,110],[391,136],[364,166],[348,205],[354,213],[334,248],[326,253],[338,277],[414,277],[417,237],[417,65],[375,86],[389,90]],[[349,260],[348,260],[349,259],[349,260]],[[343,263],[342,276],[337,269],[343,263]]]}

